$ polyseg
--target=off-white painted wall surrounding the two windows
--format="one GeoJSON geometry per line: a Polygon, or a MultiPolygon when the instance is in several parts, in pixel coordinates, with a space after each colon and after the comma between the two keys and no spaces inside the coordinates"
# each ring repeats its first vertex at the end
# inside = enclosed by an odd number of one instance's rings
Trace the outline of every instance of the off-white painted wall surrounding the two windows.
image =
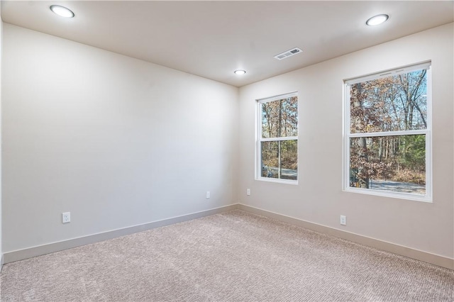
{"type": "Polygon", "coordinates": [[[454,258],[453,53],[450,23],[240,88],[240,202],[454,258]],[[342,191],[343,79],[426,60],[433,76],[433,203],[342,191]],[[299,91],[299,185],[255,181],[255,99],[290,91],[299,91]]]}

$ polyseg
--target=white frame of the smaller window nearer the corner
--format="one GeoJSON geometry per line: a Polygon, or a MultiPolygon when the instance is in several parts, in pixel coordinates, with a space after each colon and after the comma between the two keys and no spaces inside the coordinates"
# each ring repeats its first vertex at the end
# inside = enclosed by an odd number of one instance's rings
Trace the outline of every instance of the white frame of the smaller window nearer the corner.
{"type": "MultiPolygon", "coordinates": [[[[287,99],[292,96],[297,96],[298,97],[298,92],[290,92],[288,94],[279,94],[277,96],[271,96],[265,99],[258,99],[256,100],[257,102],[257,118],[256,118],[256,125],[257,125],[257,131],[256,131],[256,145],[255,145],[255,179],[260,180],[260,181],[270,181],[270,182],[276,182],[280,184],[298,184],[298,179],[299,179],[299,162],[298,162],[298,169],[297,169],[297,179],[278,179],[278,178],[272,178],[272,177],[262,177],[262,142],[275,142],[275,141],[284,141],[284,140],[297,140],[297,157],[299,153],[299,148],[298,148],[298,136],[299,136],[299,121],[297,124],[297,136],[286,136],[286,137],[280,137],[280,138],[262,138],[262,104],[268,103],[270,101],[277,101],[279,99],[287,99]]],[[[298,98],[298,107],[299,107],[299,98],[298,98]]],[[[299,109],[298,109],[299,111],[299,109]]],[[[299,112],[298,112],[299,113],[299,112]]]]}

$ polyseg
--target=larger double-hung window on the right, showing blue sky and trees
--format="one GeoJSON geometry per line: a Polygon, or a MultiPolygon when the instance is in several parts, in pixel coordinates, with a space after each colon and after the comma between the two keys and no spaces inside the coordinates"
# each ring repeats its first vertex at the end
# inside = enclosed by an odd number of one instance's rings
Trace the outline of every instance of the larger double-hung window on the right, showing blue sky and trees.
{"type": "Polygon", "coordinates": [[[344,189],[431,201],[430,63],[345,81],[344,189]]]}

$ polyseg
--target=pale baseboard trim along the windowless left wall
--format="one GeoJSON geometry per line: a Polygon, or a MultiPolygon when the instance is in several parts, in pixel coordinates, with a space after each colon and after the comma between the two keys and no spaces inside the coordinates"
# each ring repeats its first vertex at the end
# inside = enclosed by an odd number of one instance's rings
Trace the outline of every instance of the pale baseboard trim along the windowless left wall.
{"type": "Polygon", "coordinates": [[[143,225],[135,225],[128,228],[121,228],[118,230],[111,230],[104,233],[98,233],[94,235],[88,235],[84,237],[73,238],[70,240],[63,240],[60,242],[54,242],[47,245],[39,245],[37,247],[30,247],[23,250],[16,250],[13,252],[4,253],[2,257],[3,263],[16,262],[23,259],[28,259],[31,257],[41,256],[49,254],[51,252],[58,252],[61,250],[68,250],[73,247],[79,247],[82,245],[89,245],[95,242],[104,241],[113,239],[116,237],[121,237],[124,235],[131,235],[133,233],[142,232],[144,230],[150,230],[153,228],[160,228],[165,225],[172,225],[175,223],[182,223],[184,221],[193,220],[196,218],[201,218],[205,216],[214,215],[217,213],[223,213],[226,211],[236,210],[238,208],[238,203],[230,206],[222,206],[220,208],[213,208],[206,211],[191,213],[183,216],[177,216],[172,218],[167,218],[163,220],[153,221],[152,223],[145,223],[143,225]],[[3,262],[4,261],[4,262],[3,262]]]}

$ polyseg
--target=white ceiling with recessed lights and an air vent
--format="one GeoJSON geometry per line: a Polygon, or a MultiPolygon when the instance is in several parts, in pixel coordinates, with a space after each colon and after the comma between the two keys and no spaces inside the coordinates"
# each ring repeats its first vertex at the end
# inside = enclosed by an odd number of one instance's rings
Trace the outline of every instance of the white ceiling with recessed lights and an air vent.
{"type": "MultiPolygon", "coordinates": [[[[454,1],[1,1],[6,23],[243,86],[454,21],[454,1]],[[72,9],[71,19],[49,9],[72,9]],[[367,18],[387,13],[382,26],[367,18]],[[299,47],[285,60],[273,56],[299,47]],[[243,76],[233,74],[245,69],[243,76]]],[[[373,58],[371,58],[373,60],[373,58]]]]}

